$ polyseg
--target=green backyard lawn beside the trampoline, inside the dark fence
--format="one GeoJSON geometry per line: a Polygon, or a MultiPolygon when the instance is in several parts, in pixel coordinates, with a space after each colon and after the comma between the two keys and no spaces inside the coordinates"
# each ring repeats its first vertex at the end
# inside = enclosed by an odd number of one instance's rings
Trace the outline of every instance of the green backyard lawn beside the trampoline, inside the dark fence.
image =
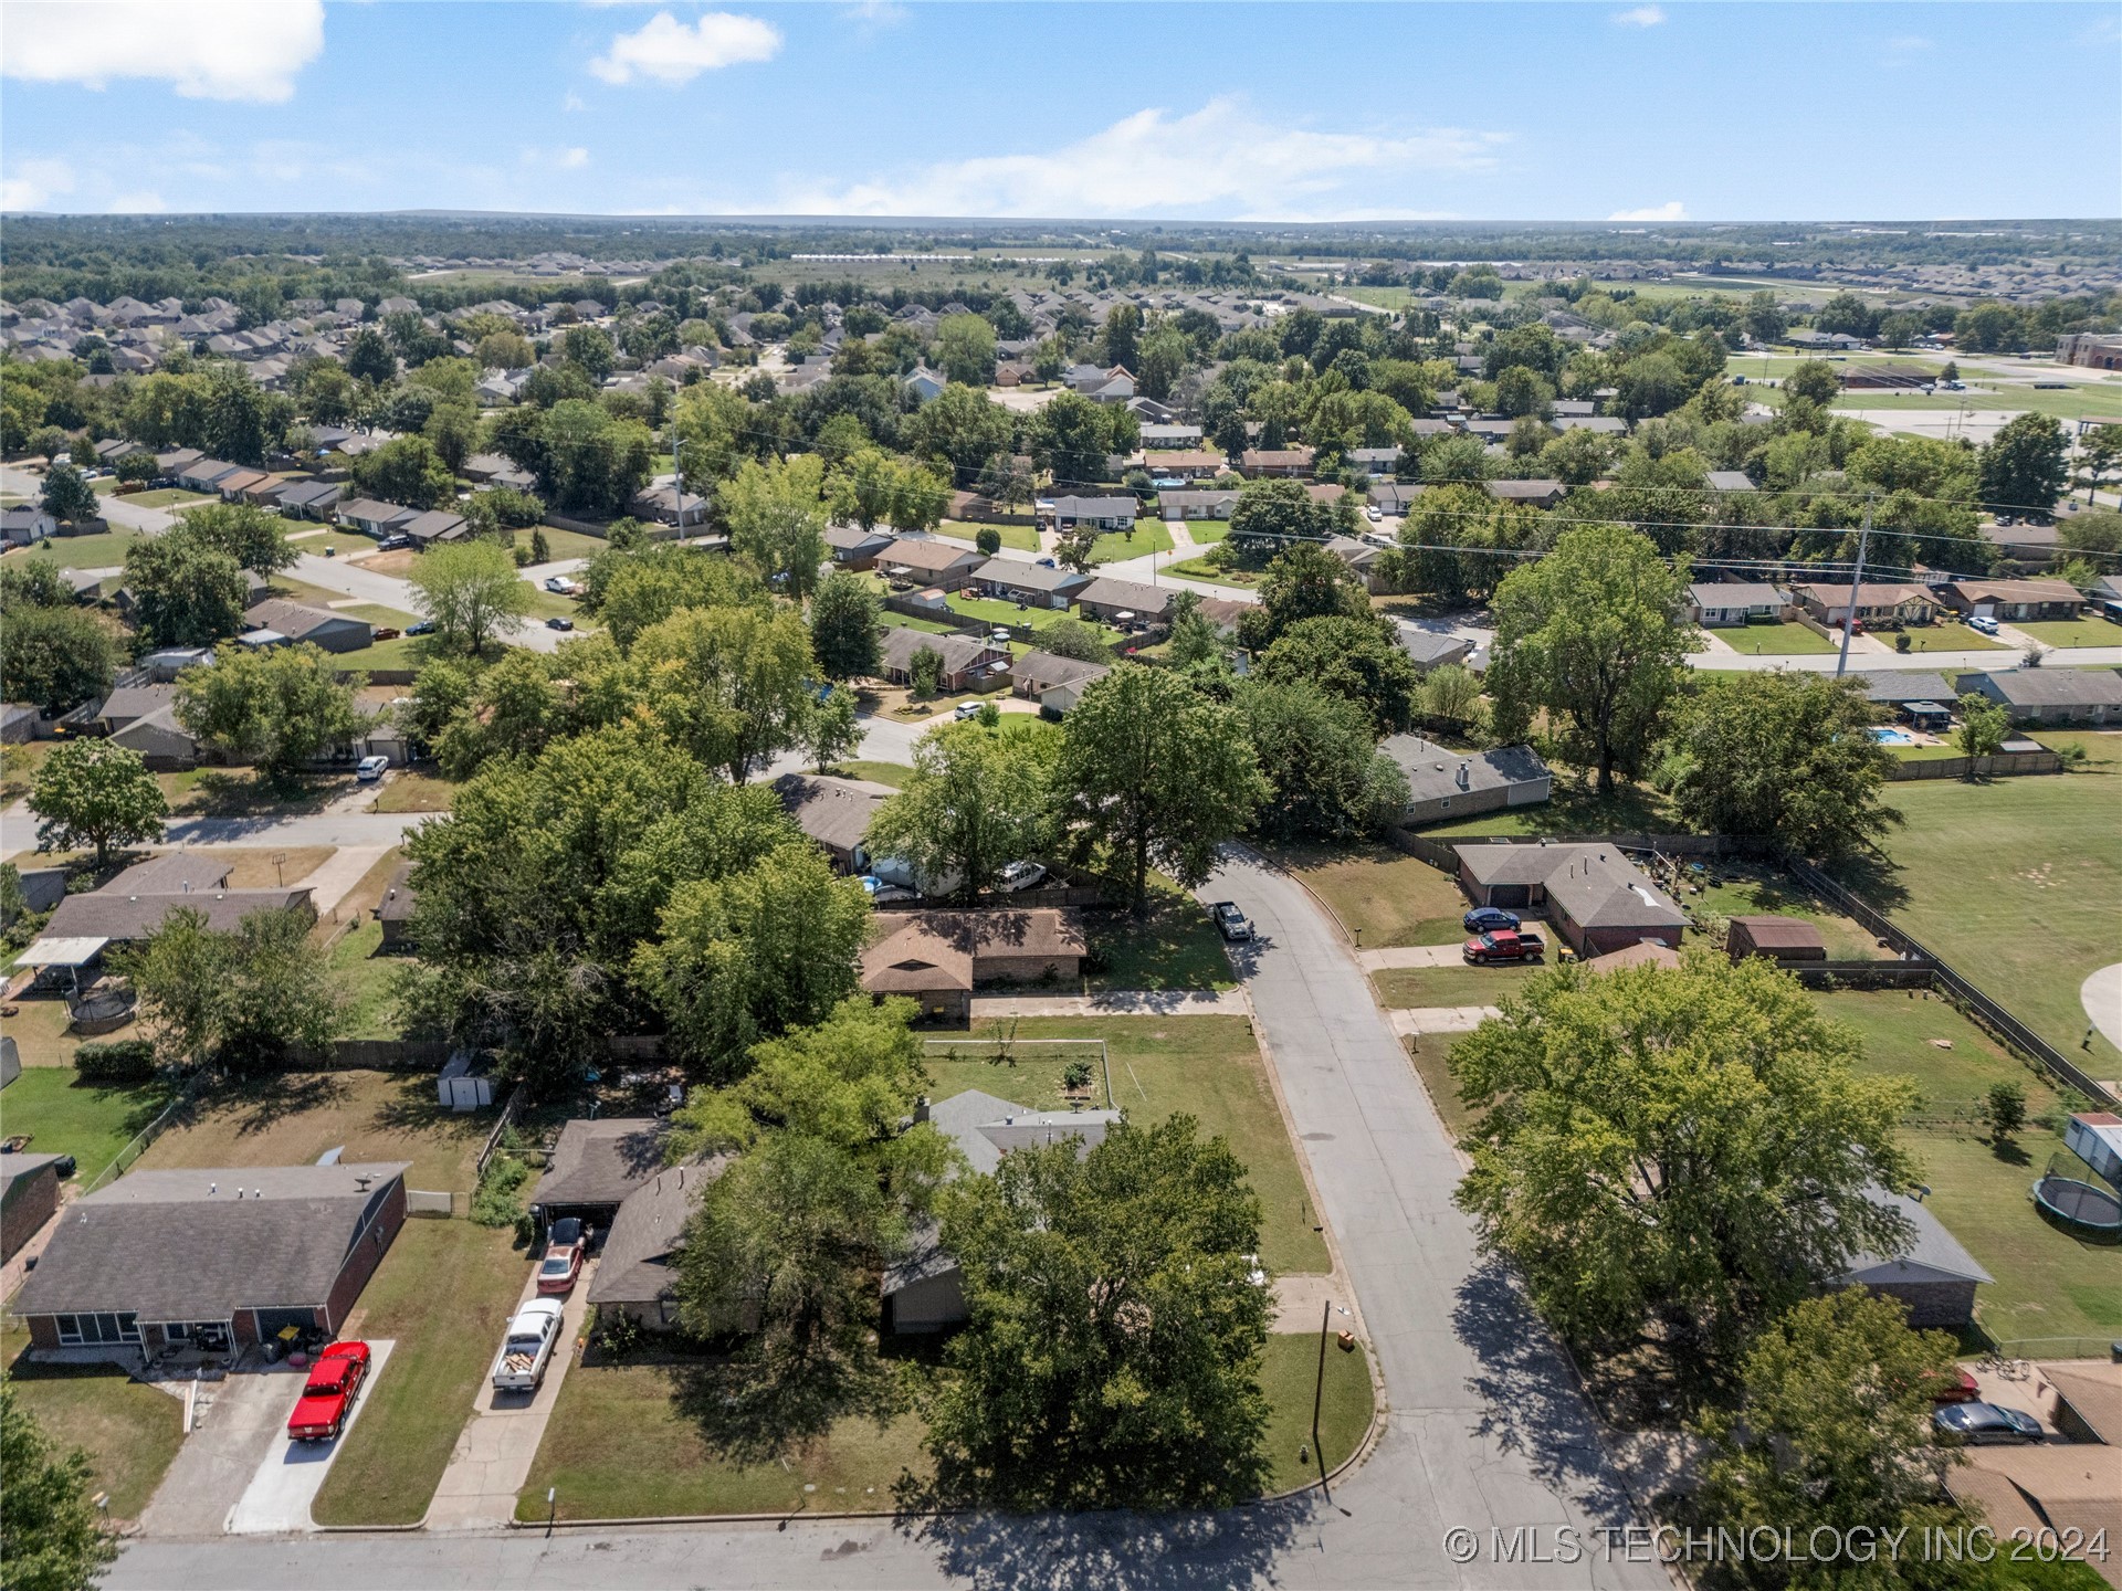
{"type": "Polygon", "coordinates": [[[1914,1078],[1920,1101],[1903,1131],[1931,1188],[1925,1203],[1995,1277],[1976,1294],[1982,1328],[1997,1341],[2105,1341],[2122,1330],[2122,1249],[2056,1230],[2027,1199],[2063,1148],[2039,1122],[2058,1103],[2046,1073],[2020,1065],[1937,997],[1844,991],[1814,999],[1863,1037],[1865,1071],[1914,1078]],[[1940,1048],[1937,1039],[1952,1048],[1940,1048]],[[2016,1141],[1993,1143],[1976,1124],[1995,1082],[2027,1090],[2029,1122],[2016,1141]]]}

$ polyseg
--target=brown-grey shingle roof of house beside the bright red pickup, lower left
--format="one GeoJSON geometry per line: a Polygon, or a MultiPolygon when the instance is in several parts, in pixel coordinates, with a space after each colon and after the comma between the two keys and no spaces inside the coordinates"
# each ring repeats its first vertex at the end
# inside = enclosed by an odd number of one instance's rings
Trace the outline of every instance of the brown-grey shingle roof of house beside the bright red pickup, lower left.
{"type": "Polygon", "coordinates": [[[405,1169],[129,1171],[66,1207],[15,1313],[134,1311],[159,1322],[323,1305],[405,1169]]]}

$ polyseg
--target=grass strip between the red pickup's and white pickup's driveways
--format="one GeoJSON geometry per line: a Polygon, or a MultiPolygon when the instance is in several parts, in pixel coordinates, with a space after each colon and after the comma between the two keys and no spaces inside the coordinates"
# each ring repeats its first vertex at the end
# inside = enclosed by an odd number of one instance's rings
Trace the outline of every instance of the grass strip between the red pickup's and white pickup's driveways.
{"type": "Polygon", "coordinates": [[[388,1336],[397,1347],[316,1496],[316,1523],[414,1525],[427,1515],[524,1266],[509,1232],[469,1220],[405,1222],[346,1324],[348,1336],[388,1336]]]}

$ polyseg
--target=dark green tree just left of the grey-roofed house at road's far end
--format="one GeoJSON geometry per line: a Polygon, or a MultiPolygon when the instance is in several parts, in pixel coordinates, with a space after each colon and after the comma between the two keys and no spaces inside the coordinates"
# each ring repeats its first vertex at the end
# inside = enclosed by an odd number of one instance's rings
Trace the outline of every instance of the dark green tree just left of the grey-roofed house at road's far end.
{"type": "Polygon", "coordinates": [[[1358,702],[1307,679],[1250,677],[1237,692],[1267,779],[1254,829],[1275,840],[1350,840],[1407,810],[1407,774],[1371,742],[1358,702]]]}

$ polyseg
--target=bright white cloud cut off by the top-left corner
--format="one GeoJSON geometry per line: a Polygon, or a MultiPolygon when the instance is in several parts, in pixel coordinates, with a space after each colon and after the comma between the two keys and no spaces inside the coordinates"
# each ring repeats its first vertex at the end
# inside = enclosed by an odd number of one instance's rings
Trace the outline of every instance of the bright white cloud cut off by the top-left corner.
{"type": "Polygon", "coordinates": [[[0,70],[89,89],[144,76],[193,100],[280,102],[323,49],[323,0],[13,0],[0,70]]]}

